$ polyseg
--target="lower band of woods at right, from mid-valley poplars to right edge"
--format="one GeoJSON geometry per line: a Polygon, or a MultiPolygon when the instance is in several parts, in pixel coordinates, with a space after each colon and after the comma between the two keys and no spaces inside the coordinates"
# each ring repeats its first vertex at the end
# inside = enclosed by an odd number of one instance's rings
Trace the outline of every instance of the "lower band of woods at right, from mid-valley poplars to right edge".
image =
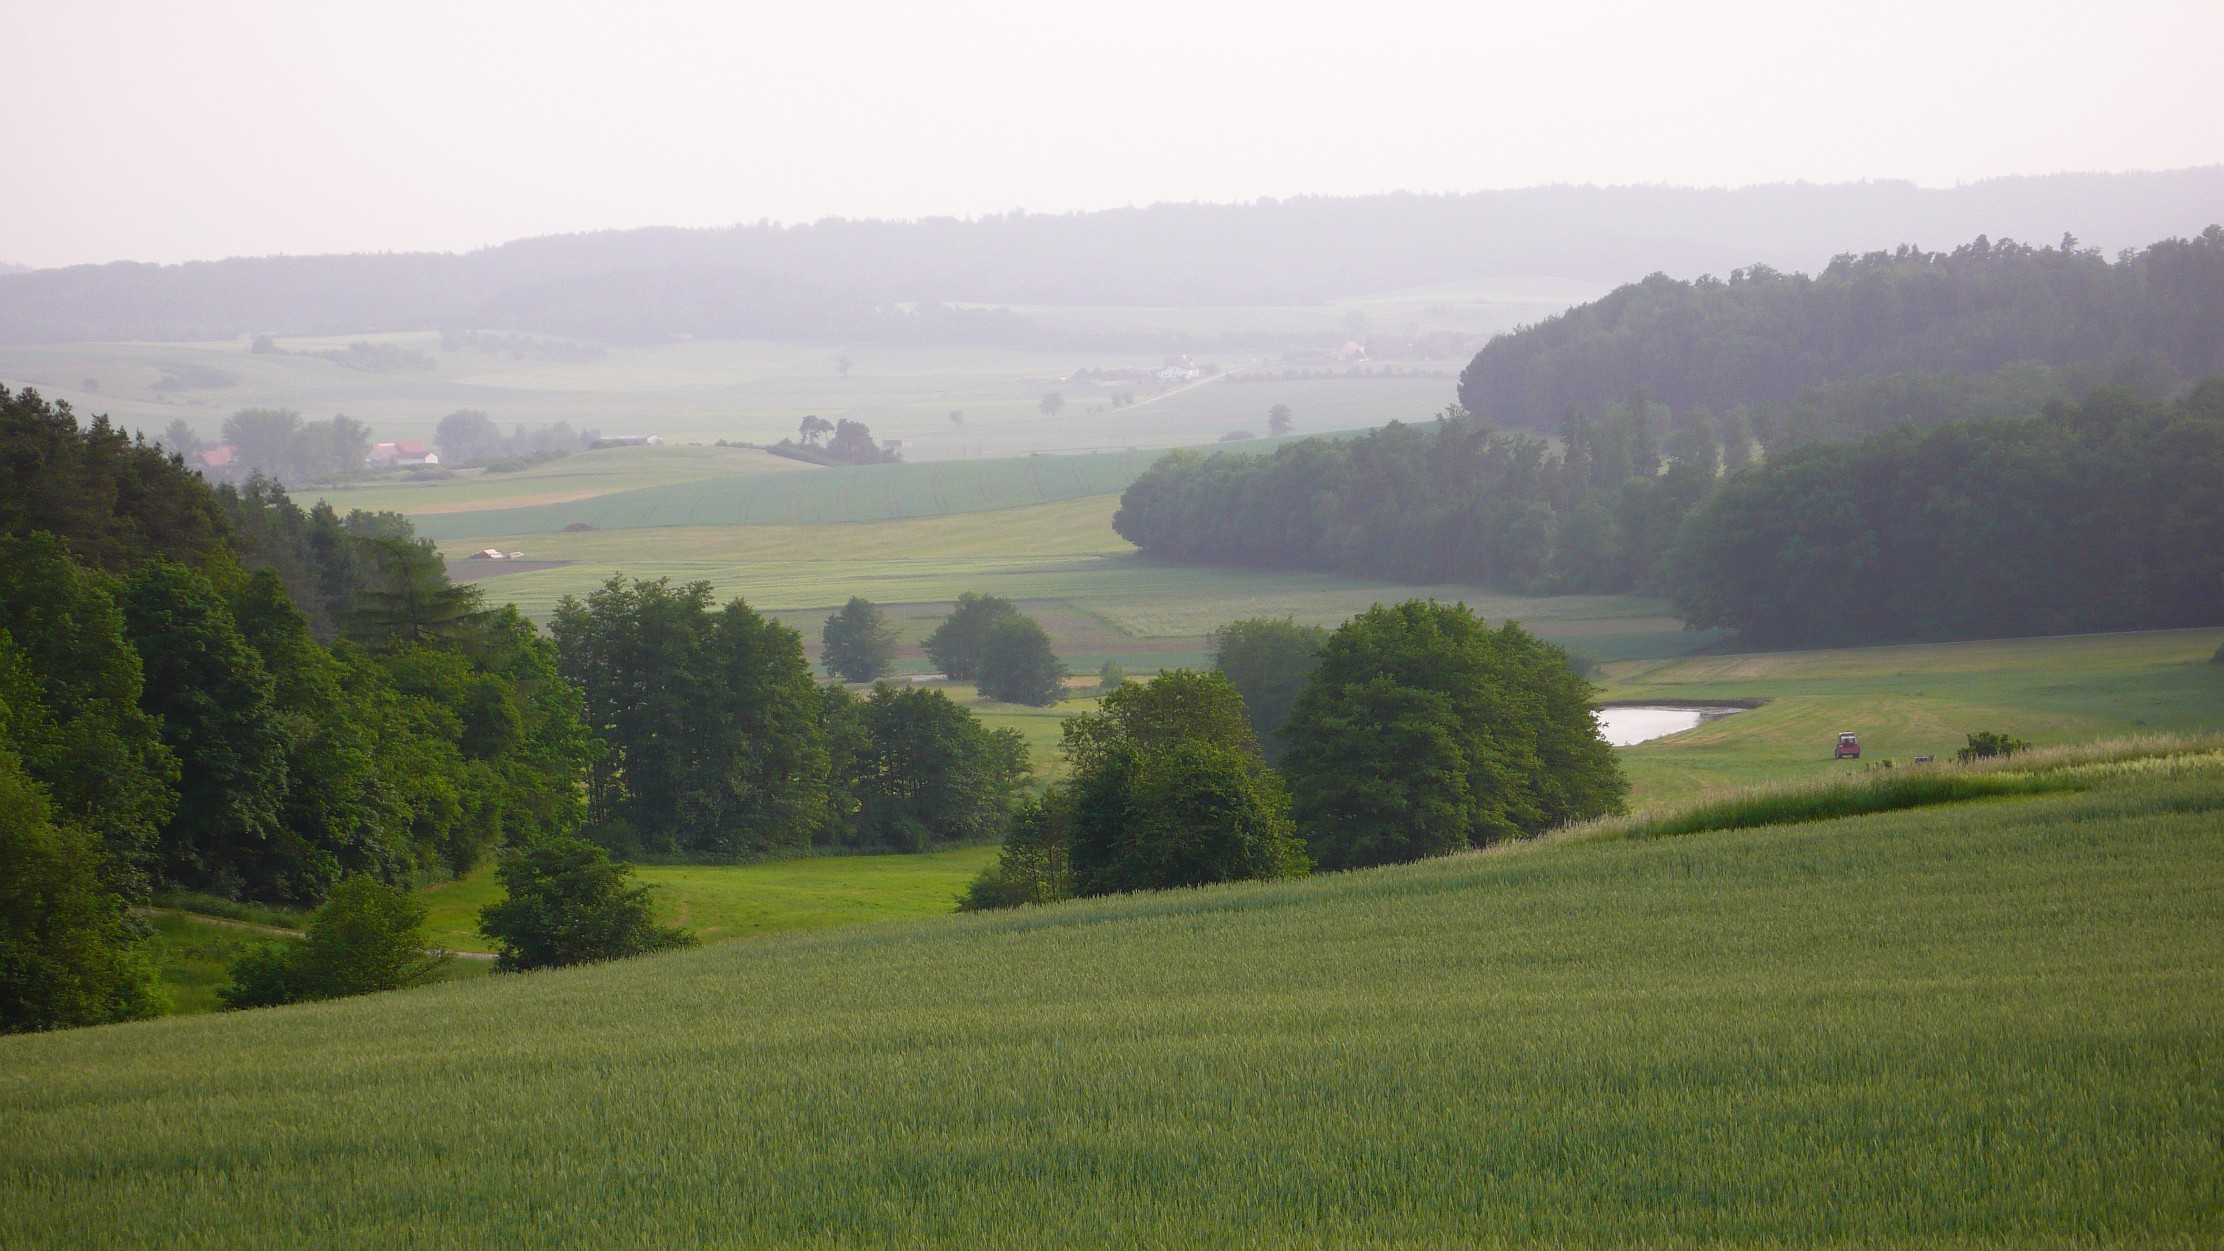
{"type": "Polygon", "coordinates": [[[2220,378],[2182,401],[2104,387],[1859,443],[1808,443],[1784,423],[1761,441],[1753,425],[1750,410],[1717,418],[1639,394],[1570,416],[1557,450],[1450,412],[1272,456],[1172,452],[1128,487],[1114,528],[1176,561],[1666,594],[1692,626],[1768,643],[2220,614],[2220,378]]]}

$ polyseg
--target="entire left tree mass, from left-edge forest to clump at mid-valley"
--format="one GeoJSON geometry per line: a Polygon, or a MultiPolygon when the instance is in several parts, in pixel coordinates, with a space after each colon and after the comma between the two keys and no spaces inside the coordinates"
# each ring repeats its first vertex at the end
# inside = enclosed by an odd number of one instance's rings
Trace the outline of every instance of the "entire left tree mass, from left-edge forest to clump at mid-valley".
{"type": "MultiPolygon", "coordinates": [[[[703,585],[614,579],[543,634],[398,514],[211,487],[0,390],[0,1033],[160,1011],[129,915],[156,897],[391,913],[409,955],[400,888],[498,848],[919,850],[999,837],[1025,775],[1016,732],[821,688],[703,585]]],[[[300,997],[307,966],[262,964],[240,1004],[300,997]]]]}

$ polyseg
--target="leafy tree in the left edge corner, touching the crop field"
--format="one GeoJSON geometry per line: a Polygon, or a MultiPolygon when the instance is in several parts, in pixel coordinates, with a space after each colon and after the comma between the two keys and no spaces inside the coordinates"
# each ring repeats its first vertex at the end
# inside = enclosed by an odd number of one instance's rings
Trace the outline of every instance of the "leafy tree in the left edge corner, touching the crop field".
{"type": "Polygon", "coordinates": [[[56,824],[11,746],[22,721],[0,701],[0,1033],[153,1015],[125,902],[96,868],[100,844],[56,824]]]}

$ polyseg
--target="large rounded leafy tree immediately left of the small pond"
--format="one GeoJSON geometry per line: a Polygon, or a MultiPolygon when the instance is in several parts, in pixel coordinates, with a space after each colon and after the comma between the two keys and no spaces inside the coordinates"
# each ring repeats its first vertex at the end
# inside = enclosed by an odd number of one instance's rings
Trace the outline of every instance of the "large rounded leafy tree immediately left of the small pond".
{"type": "Polygon", "coordinates": [[[1406,601],[1321,648],[1283,739],[1328,868],[1441,855],[1621,808],[1628,781],[1568,654],[1466,605],[1406,601]]]}

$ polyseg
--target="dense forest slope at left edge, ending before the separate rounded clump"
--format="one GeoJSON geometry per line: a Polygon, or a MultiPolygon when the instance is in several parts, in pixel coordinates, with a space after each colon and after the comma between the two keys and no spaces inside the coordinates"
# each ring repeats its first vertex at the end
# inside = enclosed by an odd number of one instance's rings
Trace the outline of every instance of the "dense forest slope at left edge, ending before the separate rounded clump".
{"type": "Polygon", "coordinates": [[[576,828],[594,755],[554,643],[405,519],[211,490],[4,390],[0,703],[4,1028],[151,1011],[125,908],[156,890],[465,873],[576,828]]]}

